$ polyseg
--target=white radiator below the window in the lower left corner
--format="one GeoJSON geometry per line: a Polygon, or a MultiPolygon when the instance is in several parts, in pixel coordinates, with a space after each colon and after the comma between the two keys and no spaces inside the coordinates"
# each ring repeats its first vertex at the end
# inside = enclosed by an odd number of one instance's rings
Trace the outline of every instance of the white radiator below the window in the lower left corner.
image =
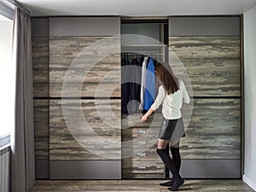
{"type": "Polygon", "coordinates": [[[10,147],[0,149],[0,192],[9,192],[10,147]]]}

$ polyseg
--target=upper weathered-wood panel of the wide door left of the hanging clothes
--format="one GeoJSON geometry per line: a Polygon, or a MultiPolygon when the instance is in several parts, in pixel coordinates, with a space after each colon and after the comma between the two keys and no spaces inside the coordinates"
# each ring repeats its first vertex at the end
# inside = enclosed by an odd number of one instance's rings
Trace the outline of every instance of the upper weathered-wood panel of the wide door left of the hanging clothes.
{"type": "Polygon", "coordinates": [[[120,96],[119,50],[119,37],[50,37],[49,96],[61,96],[64,80],[67,97],[120,96]]]}

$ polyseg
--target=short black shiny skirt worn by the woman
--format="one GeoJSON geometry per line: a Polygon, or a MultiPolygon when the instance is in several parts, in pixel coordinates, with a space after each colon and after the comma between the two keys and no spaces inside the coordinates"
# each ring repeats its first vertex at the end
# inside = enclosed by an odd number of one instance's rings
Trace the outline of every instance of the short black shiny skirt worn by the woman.
{"type": "Polygon", "coordinates": [[[185,137],[185,129],[183,118],[180,119],[165,119],[163,118],[160,126],[158,138],[169,140],[170,145],[176,144],[181,137],[185,137]]]}

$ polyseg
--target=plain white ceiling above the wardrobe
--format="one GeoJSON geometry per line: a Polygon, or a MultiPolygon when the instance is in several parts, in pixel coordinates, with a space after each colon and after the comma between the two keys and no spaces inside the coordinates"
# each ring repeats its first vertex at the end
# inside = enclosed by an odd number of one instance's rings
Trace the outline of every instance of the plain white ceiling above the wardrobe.
{"type": "Polygon", "coordinates": [[[241,15],[256,0],[16,0],[32,16],[241,15]]]}

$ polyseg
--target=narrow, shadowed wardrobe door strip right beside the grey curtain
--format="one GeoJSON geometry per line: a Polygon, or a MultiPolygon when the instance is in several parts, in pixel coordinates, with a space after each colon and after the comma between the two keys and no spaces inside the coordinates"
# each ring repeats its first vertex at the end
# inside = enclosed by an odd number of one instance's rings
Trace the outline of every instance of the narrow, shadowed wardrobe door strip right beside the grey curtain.
{"type": "Polygon", "coordinates": [[[49,178],[49,27],[32,18],[32,70],[36,178],[49,178]]]}

